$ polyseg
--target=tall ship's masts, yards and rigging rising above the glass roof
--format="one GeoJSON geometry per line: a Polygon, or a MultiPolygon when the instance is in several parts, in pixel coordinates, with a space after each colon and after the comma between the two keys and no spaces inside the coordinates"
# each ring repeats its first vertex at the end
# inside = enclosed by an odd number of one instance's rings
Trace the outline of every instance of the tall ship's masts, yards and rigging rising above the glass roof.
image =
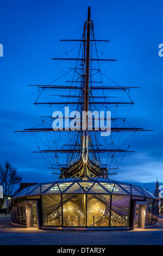
{"type": "MultiPolygon", "coordinates": [[[[32,132],[38,147],[38,151],[34,152],[42,154],[54,178],[111,178],[116,174],[124,155],[131,152],[129,147],[136,131],[144,131],[128,124],[126,120],[134,104],[130,89],[139,87],[120,86],[107,76],[110,64],[112,65],[116,59],[98,50],[99,45],[105,45],[105,49],[109,40],[95,39],[90,7],[82,39],[62,39],[61,42],[74,44],[74,52],[66,50],[66,57],[62,55],[52,59],[59,67],[60,62],[71,63],[72,66],[67,72],[61,68],[62,76],[52,83],[33,85],[39,88],[34,104],[41,116],[41,123],[32,129],[25,129],[24,132],[32,132]],[[105,72],[102,72],[101,63],[105,63],[105,72]],[[66,84],[62,84],[63,78],[66,78],[66,84]],[[95,120],[90,131],[87,118],[84,131],[54,131],[53,112],[64,112],[65,107],[70,107],[70,111],[78,111],[81,117],[82,111],[111,111],[111,135],[102,137],[101,130],[95,130],[95,120]],[[130,135],[126,135],[126,132],[130,135]]],[[[69,119],[71,121],[73,118],[69,119]]]]}

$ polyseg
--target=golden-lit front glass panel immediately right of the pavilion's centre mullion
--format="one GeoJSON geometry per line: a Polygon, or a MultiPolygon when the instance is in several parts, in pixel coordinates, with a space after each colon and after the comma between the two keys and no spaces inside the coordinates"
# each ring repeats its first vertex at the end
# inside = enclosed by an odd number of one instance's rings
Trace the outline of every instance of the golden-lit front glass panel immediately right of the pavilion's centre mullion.
{"type": "Polygon", "coordinates": [[[109,227],[109,215],[109,194],[87,194],[88,227],[109,227]]]}

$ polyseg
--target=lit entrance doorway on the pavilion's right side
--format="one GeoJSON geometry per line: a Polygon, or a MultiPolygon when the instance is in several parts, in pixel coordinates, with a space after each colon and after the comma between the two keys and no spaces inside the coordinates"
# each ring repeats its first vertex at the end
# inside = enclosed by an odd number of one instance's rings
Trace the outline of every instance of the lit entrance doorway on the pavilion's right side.
{"type": "Polygon", "coordinates": [[[147,202],[134,202],[133,229],[145,228],[147,202]]]}

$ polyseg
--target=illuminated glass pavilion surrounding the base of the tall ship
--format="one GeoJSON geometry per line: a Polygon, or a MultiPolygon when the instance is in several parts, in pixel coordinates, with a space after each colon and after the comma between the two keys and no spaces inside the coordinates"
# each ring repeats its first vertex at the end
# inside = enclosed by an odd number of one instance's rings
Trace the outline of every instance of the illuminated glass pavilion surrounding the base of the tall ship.
{"type": "Polygon", "coordinates": [[[140,186],[70,178],[24,188],[12,198],[11,224],[54,229],[130,229],[158,224],[159,200],[140,186]]]}

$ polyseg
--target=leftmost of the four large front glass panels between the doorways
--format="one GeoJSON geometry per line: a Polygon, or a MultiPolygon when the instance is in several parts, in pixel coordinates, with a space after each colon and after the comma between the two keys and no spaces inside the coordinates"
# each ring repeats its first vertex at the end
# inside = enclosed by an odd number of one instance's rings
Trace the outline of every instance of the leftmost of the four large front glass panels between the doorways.
{"type": "Polygon", "coordinates": [[[42,197],[42,215],[43,225],[46,226],[61,226],[62,211],[61,211],[61,195],[53,194],[42,197]]]}

